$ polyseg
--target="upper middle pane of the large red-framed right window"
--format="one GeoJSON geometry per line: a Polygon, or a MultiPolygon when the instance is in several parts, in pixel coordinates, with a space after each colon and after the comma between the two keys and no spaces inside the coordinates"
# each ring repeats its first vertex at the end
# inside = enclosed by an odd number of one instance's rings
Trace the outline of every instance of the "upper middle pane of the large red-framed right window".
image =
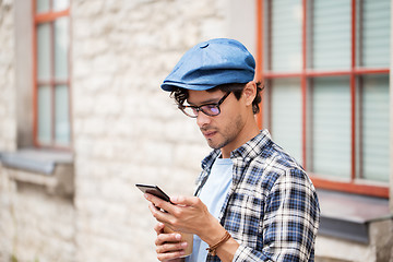
{"type": "Polygon", "coordinates": [[[315,0],[312,4],[311,68],[349,69],[350,0],[315,0]]]}

